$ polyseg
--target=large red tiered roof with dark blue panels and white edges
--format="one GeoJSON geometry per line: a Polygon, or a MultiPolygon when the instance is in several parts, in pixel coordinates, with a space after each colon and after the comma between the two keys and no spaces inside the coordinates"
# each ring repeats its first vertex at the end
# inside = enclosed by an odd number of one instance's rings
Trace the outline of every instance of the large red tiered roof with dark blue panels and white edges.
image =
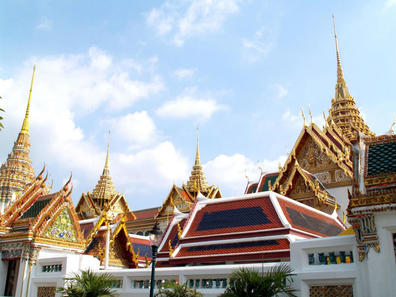
{"type": "Polygon", "coordinates": [[[274,192],[215,200],[200,194],[189,214],[172,217],[158,262],[167,267],[288,261],[290,242],[343,230],[336,213],[327,215],[274,192]]]}

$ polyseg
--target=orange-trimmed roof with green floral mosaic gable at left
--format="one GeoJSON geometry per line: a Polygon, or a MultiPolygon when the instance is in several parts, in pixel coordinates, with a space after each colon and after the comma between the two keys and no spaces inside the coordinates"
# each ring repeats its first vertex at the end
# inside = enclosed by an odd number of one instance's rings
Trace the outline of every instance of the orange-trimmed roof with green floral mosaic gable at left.
{"type": "Polygon", "coordinates": [[[71,176],[59,192],[50,193],[48,172],[44,179],[43,172],[5,209],[0,218],[1,240],[29,240],[81,252],[84,238],[70,197],[71,176]]]}

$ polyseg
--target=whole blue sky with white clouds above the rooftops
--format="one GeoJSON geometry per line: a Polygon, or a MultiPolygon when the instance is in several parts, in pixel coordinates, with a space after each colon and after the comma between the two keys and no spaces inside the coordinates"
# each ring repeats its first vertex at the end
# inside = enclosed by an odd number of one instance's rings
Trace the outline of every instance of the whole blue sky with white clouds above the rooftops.
{"type": "Polygon", "coordinates": [[[187,182],[200,127],[208,183],[223,196],[277,170],[308,103],[334,96],[335,14],[351,94],[384,133],[396,112],[396,1],[9,1],[0,10],[0,160],[22,124],[33,64],[30,157],[73,200],[105,162],[131,209],[187,182]]]}

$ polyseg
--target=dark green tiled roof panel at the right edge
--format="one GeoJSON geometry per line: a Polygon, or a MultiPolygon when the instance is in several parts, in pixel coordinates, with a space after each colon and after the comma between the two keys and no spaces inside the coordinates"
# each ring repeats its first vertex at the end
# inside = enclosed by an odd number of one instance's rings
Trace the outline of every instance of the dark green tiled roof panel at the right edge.
{"type": "Polygon", "coordinates": [[[369,146],[367,175],[396,171],[396,142],[369,146]]]}

